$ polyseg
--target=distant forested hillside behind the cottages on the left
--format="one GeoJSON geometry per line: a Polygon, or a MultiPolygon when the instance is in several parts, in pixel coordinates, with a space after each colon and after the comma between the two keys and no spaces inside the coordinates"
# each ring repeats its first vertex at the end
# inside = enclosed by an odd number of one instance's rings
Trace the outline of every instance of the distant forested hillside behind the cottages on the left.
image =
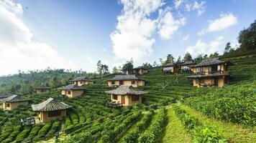
{"type": "Polygon", "coordinates": [[[99,74],[70,69],[19,71],[19,74],[0,77],[0,94],[29,94],[35,87],[60,87],[76,77],[96,78],[99,74]]]}

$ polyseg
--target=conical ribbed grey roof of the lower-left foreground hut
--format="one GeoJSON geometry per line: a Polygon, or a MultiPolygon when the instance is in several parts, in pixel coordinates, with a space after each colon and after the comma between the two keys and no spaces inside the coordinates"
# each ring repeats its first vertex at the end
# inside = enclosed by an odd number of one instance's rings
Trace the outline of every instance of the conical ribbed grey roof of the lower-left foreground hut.
{"type": "Polygon", "coordinates": [[[50,111],[71,108],[70,105],[65,104],[63,102],[58,102],[53,98],[49,98],[45,102],[42,102],[40,104],[32,104],[31,107],[35,112],[50,112],[50,111]]]}

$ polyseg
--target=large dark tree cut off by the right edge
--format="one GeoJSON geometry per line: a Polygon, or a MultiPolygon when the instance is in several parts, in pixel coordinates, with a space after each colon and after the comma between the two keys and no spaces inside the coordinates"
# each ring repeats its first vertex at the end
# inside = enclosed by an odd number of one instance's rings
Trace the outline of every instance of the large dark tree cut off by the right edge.
{"type": "Polygon", "coordinates": [[[256,49],[256,20],[247,29],[240,31],[238,42],[242,51],[256,49]]]}

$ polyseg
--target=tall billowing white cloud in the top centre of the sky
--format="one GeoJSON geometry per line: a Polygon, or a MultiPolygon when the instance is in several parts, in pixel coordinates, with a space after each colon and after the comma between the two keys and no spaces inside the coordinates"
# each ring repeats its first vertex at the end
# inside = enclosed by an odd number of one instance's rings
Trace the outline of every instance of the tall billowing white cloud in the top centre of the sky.
{"type": "Polygon", "coordinates": [[[163,0],[120,0],[124,7],[117,16],[116,30],[110,34],[112,48],[117,59],[133,58],[134,63],[147,59],[155,43],[153,35],[158,32],[163,39],[170,39],[185,18],[175,19],[170,8],[161,9],[163,0]],[[160,10],[161,9],[161,10],[160,10]],[[156,19],[151,15],[158,10],[156,19]]]}

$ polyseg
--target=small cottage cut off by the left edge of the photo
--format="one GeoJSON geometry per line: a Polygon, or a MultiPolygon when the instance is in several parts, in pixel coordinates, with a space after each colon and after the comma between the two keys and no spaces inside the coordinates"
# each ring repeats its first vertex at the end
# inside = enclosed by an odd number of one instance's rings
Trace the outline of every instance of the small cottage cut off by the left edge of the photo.
{"type": "Polygon", "coordinates": [[[2,108],[4,110],[13,110],[17,109],[20,105],[29,104],[29,99],[21,97],[19,95],[12,95],[4,99],[0,99],[0,102],[3,103],[2,108]]]}

